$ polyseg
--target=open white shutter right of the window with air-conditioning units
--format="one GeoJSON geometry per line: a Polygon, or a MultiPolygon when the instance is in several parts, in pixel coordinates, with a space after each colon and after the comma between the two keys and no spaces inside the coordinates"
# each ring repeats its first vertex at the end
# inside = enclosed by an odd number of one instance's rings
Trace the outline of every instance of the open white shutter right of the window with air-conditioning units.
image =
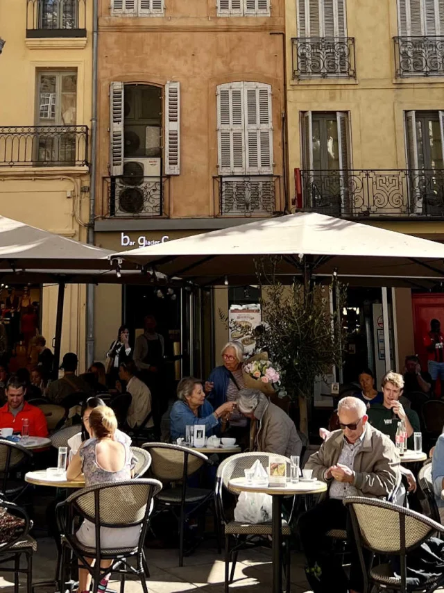
{"type": "Polygon", "coordinates": [[[180,174],[180,83],[165,87],[165,174],[180,174]]]}

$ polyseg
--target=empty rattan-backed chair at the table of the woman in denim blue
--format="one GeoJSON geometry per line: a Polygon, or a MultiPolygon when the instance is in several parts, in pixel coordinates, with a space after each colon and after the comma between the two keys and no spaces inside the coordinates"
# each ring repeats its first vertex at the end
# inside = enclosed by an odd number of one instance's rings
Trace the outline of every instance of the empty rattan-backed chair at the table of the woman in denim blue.
{"type": "MultiPolygon", "coordinates": [[[[191,516],[195,516],[198,510],[203,510],[214,503],[212,490],[189,487],[187,480],[207,465],[209,460],[203,453],[175,444],[145,443],[142,448],[149,451],[151,455],[151,476],[160,480],[164,485],[164,489],[157,496],[156,514],[169,510],[173,512],[178,521],[179,566],[183,566],[185,521],[188,521],[191,516]],[[175,482],[182,483],[180,486],[176,486],[173,484],[175,482]],[[187,510],[187,506],[189,510],[187,510]],[[178,509],[178,512],[176,512],[176,509],[178,509]]],[[[217,526],[215,510],[214,515],[217,526]]],[[[219,533],[216,533],[216,537],[220,549],[219,533]]]]}

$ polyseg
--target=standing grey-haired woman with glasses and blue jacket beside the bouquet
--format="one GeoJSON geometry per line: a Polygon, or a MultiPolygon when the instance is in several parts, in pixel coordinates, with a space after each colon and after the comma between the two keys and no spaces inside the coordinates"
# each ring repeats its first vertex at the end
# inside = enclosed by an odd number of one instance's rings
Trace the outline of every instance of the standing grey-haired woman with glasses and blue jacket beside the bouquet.
{"type": "MultiPolygon", "coordinates": [[[[214,408],[225,401],[236,401],[237,394],[244,389],[244,346],[241,342],[227,342],[221,351],[223,365],[210,373],[205,383],[205,392],[214,408]]],[[[248,426],[248,420],[236,410],[230,414],[230,436],[242,440],[248,426]]]]}

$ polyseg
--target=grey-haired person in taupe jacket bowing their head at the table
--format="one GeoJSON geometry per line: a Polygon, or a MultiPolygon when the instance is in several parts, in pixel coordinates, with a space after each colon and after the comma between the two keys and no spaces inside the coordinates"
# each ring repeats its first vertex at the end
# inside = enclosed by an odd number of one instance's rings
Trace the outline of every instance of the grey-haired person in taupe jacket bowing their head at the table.
{"type": "Polygon", "coordinates": [[[250,451],[290,457],[300,455],[302,441],[293,420],[258,389],[241,389],[237,408],[250,418],[250,451]]]}

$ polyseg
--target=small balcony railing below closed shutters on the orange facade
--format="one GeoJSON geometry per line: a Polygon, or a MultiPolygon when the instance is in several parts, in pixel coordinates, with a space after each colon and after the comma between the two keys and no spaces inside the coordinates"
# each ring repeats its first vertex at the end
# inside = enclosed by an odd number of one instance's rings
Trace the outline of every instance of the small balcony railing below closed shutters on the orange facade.
{"type": "Polygon", "coordinates": [[[269,216],[276,210],[279,176],[219,176],[213,181],[220,216],[269,216]]]}

